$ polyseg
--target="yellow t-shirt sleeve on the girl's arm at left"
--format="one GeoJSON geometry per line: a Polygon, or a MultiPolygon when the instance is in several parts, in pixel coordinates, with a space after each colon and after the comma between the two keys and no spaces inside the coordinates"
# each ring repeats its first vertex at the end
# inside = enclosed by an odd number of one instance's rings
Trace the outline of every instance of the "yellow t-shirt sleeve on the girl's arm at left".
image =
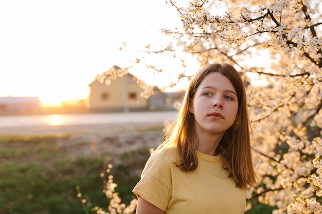
{"type": "Polygon", "coordinates": [[[142,171],[141,180],[133,189],[136,196],[164,211],[172,196],[170,164],[164,155],[153,153],[142,171]]]}

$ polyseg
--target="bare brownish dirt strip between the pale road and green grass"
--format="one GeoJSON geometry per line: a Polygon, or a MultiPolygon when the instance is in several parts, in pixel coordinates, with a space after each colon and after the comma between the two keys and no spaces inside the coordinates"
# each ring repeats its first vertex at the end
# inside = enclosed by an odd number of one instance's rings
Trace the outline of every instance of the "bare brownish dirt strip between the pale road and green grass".
{"type": "Polygon", "coordinates": [[[68,154],[66,159],[104,155],[117,164],[126,152],[144,150],[149,153],[149,148],[156,148],[162,141],[163,128],[159,123],[7,128],[0,130],[0,138],[3,135],[53,135],[57,138],[50,142],[50,147],[68,154]]]}

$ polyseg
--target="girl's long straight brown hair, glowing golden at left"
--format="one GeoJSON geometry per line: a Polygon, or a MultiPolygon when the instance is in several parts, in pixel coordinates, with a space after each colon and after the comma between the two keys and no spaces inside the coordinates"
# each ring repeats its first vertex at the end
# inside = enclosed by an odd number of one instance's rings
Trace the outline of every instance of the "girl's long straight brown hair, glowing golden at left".
{"type": "Polygon", "coordinates": [[[225,169],[230,171],[229,177],[235,181],[238,188],[246,189],[247,185],[256,182],[251,154],[246,92],[240,74],[229,64],[207,65],[194,76],[185,93],[182,106],[168,127],[164,140],[158,148],[176,147],[178,153],[176,166],[183,171],[196,169],[198,166],[196,155],[198,139],[194,132],[194,114],[189,112],[188,108],[201,82],[213,72],[219,72],[227,77],[237,92],[238,112],[235,123],[225,131],[217,149],[223,157],[225,169]]]}

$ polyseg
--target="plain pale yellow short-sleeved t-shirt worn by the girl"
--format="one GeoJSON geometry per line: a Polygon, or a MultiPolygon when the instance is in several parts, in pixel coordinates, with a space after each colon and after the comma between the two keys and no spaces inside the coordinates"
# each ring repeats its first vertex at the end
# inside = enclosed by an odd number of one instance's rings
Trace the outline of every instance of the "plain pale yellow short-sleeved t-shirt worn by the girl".
{"type": "Polygon", "coordinates": [[[175,148],[154,152],[133,192],[167,214],[240,214],[246,190],[236,188],[223,169],[222,157],[197,152],[198,167],[184,172],[175,166],[175,148]]]}

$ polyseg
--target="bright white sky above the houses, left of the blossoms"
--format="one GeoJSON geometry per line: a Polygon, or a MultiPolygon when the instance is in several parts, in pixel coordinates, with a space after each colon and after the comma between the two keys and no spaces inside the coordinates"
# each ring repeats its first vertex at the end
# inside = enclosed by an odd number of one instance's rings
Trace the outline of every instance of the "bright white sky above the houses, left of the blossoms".
{"type": "Polygon", "coordinates": [[[0,20],[0,96],[43,105],[85,99],[97,74],[164,40],[159,29],[181,26],[160,0],[0,1],[0,20]],[[133,51],[121,52],[123,42],[133,51]]]}

